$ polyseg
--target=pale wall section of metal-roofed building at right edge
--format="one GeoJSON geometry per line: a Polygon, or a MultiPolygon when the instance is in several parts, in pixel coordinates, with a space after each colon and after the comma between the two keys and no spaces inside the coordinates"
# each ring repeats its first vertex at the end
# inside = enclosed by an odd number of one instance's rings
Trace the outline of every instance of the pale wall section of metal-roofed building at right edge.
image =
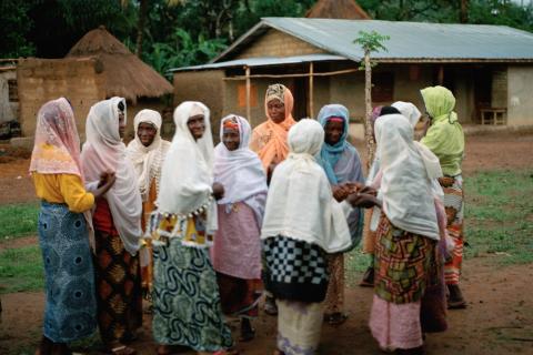
{"type": "Polygon", "coordinates": [[[533,124],[533,65],[507,68],[507,125],[533,124]]]}

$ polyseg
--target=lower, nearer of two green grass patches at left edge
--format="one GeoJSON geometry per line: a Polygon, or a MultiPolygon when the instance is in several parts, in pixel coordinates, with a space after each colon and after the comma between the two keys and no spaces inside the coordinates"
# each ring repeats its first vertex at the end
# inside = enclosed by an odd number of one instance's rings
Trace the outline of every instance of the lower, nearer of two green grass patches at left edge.
{"type": "Polygon", "coordinates": [[[0,252],[0,293],[39,291],[44,286],[44,270],[39,245],[0,252]]]}

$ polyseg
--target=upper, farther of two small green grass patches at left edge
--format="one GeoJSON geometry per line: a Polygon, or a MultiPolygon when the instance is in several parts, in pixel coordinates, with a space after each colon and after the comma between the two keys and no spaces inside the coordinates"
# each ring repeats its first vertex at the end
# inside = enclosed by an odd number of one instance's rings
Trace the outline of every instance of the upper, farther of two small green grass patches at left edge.
{"type": "Polygon", "coordinates": [[[36,203],[0,206],[0,242],[37,233],[39,205],[36,203]]]}

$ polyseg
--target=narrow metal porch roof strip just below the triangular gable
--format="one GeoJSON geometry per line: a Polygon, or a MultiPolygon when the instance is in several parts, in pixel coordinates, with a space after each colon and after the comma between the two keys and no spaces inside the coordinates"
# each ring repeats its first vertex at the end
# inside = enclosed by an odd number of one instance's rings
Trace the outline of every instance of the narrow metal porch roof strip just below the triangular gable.
{"type": "Polygon", "coordinates": [[[209,69],[222,69],[222,68],[238,68],[238,67],[270,67],[270,65],[284,65],[295,63],[320,62],[320,61],[336,61],[346,60],[346,58],[333,54],[308,54],[295,57],[261,57],[261,58],[245,58],[230,60],[227,62],[217,62],[203,65],[182,67],[170,69],[169,72],[177,71],[194,71],[194,70],[209,70],[209,69]]]}

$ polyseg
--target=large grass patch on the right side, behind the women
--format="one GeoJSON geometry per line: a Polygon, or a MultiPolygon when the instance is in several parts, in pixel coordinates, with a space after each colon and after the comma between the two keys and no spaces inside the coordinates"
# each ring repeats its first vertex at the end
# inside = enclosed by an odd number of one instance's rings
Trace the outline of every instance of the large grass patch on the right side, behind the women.
{"type": "Polygon", "coordinates": [[[533,262],[533,172],[486,171],[465,179],[466,257],[500,254],[533,262]]]}

